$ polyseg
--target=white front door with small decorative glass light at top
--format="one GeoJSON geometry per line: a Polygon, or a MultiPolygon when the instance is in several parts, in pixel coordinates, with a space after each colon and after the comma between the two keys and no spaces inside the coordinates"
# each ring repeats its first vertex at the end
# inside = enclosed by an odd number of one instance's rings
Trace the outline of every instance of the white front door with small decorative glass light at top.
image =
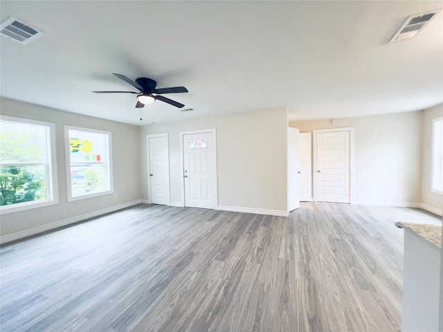
{"type": "Polygon", "coordinates": [[[185,206],[215,208],[215,134],[183,134],[185,206]]]}

